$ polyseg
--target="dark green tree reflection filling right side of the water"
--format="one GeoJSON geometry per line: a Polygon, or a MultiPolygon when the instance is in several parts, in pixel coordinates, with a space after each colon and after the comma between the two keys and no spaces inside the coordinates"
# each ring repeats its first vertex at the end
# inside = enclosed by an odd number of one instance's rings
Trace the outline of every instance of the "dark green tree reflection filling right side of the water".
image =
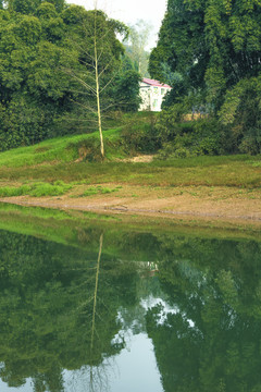
{"type": "Polygon", "coordinates": [[[175,311],[158,305],[147,314],[164,391],[259,391],[260,244],[164,244],[159,275],[175,311]]]}

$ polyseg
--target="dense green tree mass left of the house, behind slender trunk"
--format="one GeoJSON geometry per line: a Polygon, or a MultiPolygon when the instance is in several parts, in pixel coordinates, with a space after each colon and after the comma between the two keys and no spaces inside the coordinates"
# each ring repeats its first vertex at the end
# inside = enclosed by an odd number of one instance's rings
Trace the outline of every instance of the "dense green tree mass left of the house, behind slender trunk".
{"type": "Polygon", "coordinates": [[[0,150],[94,128],[95,34],[103,109],[121,99],[122,110],[136,110],[139,75],[122,65],[122,23],[62,0],[0,9],[0,150]]]}

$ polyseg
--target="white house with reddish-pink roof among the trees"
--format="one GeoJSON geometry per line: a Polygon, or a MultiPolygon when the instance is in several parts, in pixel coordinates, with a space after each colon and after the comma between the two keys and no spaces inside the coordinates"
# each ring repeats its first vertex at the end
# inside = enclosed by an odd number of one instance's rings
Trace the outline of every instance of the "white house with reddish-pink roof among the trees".
{"type": "Polygon", "coordinates": [[[171,89],[172,87],[166,84],[147,77],[142,78],[142,82],[139,84],[139,94],[142,99],[139,111],[161,111],[163,97],[171,89]]]}

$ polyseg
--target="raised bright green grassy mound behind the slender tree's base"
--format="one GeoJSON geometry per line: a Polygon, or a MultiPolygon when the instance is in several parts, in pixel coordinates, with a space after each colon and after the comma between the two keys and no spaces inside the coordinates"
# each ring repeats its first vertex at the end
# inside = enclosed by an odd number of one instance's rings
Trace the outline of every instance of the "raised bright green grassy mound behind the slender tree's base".
{"type": "MultiPolygon", "coordinates": [[[[126,113],[117,119],[107,119],[103,131],[107,161],[129,155],[122,130],[138,124],[140,131],[148,128],[151,113],[126,113]]],[[[132,131],[130,131],[132,132],[132,131]]],[[[0,152],[0,168],[23,168],[39,164],[72,163],[74,161],[99,161],[99,132],[47,139],[34,146],[14,148],[0,152]]]]}

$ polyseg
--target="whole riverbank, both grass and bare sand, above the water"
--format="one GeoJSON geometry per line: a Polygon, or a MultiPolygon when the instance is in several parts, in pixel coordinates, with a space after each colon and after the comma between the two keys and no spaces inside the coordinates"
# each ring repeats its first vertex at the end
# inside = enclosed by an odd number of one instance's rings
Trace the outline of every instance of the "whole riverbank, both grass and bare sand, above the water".
{"type": "Polygon", "coordinates": [[[124,158],[120,136],[119,130],[107,132],[111,154],[103,161],[87,160],[92,134],[0,154],[0,201],[139,216],[140,222],[151,217],[220,228],[261,225],[260,156],[124,158]]]}

